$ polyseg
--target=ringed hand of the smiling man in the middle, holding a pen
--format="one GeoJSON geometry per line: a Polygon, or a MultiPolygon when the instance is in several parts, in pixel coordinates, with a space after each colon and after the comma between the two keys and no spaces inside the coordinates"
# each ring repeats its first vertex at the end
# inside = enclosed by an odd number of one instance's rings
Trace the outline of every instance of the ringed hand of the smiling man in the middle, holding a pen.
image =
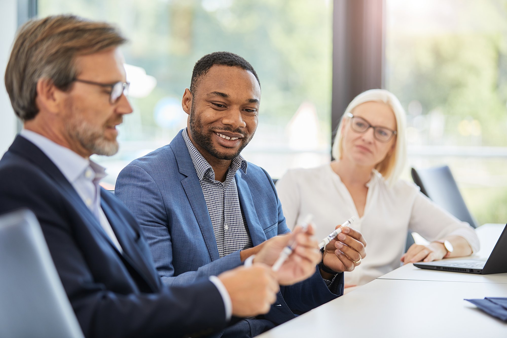
{"type": "MultiPolygon", "coordinates": [[[[338,228],[340,225],[337,225],[338,228]]],[[[348,226],[329,242],[322,254],[322,262],[333,271],[352,271],[366,257],[366,241],[363,234],[348,226]]],[[[321,274],[325,274],[321,272],[321,274]]],[[[322,275],[322,277],[325,277],[322,275]]]]}

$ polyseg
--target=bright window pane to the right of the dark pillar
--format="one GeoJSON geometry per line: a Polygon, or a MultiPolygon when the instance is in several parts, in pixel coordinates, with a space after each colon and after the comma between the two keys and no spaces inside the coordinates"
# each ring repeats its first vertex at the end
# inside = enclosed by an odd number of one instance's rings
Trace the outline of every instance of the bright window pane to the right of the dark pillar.
{"type": "Polygon", "coordinates": [[[407,111],[409,165],[448,164],[479,224],[507,220],[505,17],[505,0],[386,2],[385,83],[407,111]]]}

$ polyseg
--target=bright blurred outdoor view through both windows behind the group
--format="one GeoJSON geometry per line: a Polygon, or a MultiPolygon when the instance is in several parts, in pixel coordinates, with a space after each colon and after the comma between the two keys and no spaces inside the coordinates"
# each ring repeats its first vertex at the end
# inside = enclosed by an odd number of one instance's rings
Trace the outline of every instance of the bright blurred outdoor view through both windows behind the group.
{"type": "MultiPolygon", "coordinates": [[[[274,177],[329,160],[331,0],[39,0],[38,6],[41,17],[73,13],[117,23],[131,41],[123,48],[127,63],[158,81],[150,95],[131,99],[135,111],[122,125],[120,153],[99,159],[112,184],[130,160],[167,144],[186,125],[186,114],[175,108],[179,121],[161,126],[157,104],[179,102],[194,63],[220,50],[246,58],[261,80],[260,124],[243,151],[247,160],[274,177]],[[298,153],[290,149],[286,126],[305,102],[314,106],[318,132],[300,137],[316,138],[318,146],[298,153]]],[[[448,164],[480,224],[507,222],[507,158],[501,155],[507,147],[507,0],[386,0],[386,6],[385,87],[400,98],[409,126],[404,178],[410,180],[410,166],[448,164]],[[469,156],[414,151],[442,146],[471,150],[469,156]],[[493,147],[493,155],[478,147],[493,147]]]]}

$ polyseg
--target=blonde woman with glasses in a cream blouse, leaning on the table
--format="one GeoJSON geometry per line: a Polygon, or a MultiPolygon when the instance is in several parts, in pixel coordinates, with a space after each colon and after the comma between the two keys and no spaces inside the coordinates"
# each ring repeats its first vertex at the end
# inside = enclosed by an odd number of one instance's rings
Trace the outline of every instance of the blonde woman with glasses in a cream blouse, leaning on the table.
{"type": "MultiPolygon", "coordinates": [[[[400,262],[431,261],[472,254],[479,240],[461,222],[410,182],[400,180],[405,165],[405,111],[387,90],[372,89],[348,105],[333,144],[336,160],[312,169],[288,171],[276,184],[287,226],[313,215],[318,239],[351,216],[363,233],[367,256],[345,274],[345,286],[363,285],[400,262]],[[407,230],[431,241],[404,254],[407,230]]],[[[336,253],[344,244],[336,242],[336,253]]],[[[323,253],[326,254],[325,252],[323,253]]]]}

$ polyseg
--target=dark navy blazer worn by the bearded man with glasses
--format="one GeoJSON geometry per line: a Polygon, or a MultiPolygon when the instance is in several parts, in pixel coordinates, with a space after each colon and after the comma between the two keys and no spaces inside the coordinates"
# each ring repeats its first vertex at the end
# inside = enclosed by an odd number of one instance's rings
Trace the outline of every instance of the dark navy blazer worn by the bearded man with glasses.
{"type": "Polygon", "coordinates": [[[164,286],[125,206],[101,189],[101,207],[122,254],[56,165],[17,136],[0,160],[0,214],[23,207],[41,223],[85,336],[179,337],[225,327],[222,297],[209,280],[164,286]]]}

